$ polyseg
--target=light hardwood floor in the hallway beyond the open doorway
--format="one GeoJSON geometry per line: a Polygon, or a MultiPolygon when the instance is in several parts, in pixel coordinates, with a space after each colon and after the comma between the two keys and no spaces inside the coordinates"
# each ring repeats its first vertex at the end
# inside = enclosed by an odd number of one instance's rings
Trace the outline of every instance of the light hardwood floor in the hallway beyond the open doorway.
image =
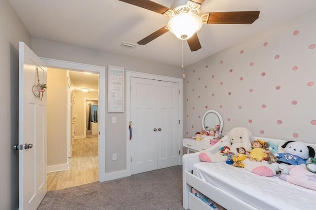
{"type": "Polygon", "coordinates": [[[74,140],[69,169],[47,174],[47,191],[98,181],[98,137],[74,140]]]}

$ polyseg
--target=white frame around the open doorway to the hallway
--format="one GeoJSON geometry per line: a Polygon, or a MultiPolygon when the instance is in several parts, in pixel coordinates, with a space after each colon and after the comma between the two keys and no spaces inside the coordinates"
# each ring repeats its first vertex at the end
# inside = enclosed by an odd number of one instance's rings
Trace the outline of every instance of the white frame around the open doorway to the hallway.
{"type": "Polygon", "coordinates": [[[99,137],[98,137],[98,179],[99,181],[105,181],[105,117],[106,117],[106,73],[107,67],[95,66],[90,64],[80,64],[70,61],[61,61],[50,58],[40,59],[49,68],[59,68],[65,70],[76,70],[85,72],[94,72],[99,74],[99,137]]]}

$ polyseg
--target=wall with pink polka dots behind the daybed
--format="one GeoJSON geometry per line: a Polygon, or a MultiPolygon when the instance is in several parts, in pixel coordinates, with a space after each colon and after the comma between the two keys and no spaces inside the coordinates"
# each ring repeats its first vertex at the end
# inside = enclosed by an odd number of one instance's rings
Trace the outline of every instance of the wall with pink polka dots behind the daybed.
{"type": "Polygon", "coordinates": [[[315,18],[307,13],[188,67],[184,133],[200,131],[201,116],[214,109],[223,134],[242,126],[258,137],[316,143],[315,18]]]}

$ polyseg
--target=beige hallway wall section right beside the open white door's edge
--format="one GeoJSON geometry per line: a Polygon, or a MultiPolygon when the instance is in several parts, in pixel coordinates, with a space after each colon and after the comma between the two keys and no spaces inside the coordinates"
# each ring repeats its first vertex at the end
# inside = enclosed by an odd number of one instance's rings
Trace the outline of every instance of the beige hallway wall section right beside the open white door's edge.
{"type": "Polygon", "coordinates": [[[67,163],[67,71],[47,69],[47,166],[67,163]]]}

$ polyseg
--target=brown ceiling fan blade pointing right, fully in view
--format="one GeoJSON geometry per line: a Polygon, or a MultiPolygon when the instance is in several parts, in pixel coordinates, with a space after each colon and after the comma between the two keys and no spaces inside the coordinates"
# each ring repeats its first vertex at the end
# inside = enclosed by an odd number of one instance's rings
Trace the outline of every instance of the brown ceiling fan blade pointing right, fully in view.
{"type": "Polygon", "coordinates": [[[260,11],[209,12],[208,24],[252,24],[260,11]]]}

